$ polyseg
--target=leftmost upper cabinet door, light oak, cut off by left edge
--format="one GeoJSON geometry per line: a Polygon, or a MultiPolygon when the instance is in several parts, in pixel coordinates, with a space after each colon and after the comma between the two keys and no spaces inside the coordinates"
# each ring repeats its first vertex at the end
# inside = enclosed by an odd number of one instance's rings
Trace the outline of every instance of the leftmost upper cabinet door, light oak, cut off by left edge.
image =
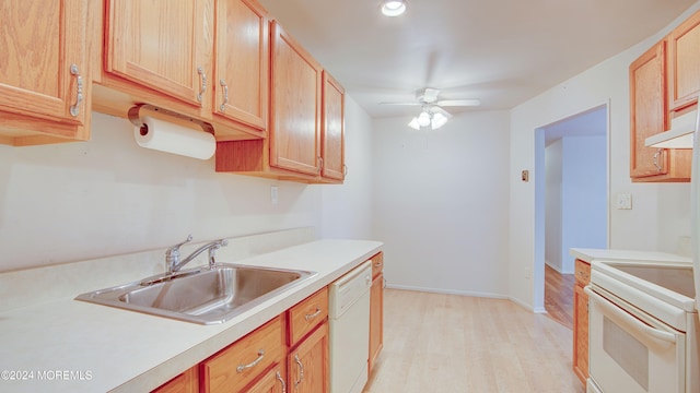
{"type": "Polygon", "coordinates": [[[0,2],[0,109],[83,124],[86,0],[0,2]]]}

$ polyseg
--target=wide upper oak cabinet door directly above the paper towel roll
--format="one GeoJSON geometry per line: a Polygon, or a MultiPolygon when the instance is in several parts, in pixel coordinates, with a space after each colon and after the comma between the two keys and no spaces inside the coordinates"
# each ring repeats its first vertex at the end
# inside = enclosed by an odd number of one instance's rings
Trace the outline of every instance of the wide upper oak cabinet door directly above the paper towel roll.
{"type": "Polygon", "coordinates": [[[107,0],[105,69],[197,107],[211,50],[202,0],[107,0]]]}

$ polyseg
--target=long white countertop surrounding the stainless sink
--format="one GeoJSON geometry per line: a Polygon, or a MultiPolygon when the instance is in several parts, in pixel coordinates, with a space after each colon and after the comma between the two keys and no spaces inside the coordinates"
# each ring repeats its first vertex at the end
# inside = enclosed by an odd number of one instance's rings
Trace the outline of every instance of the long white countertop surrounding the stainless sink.
{"type": "MultiPolygon", "coordinates": [[[[80,293],[2,311],[0,391],[150,391],[334,282],[381,248],[381,242],[370,240],[317,240],[236,261],[318,274],[222,324],[199,325],[73,300],[80,293]]],[[[27,288],[34,289],[42,290],[27,288]]]]}

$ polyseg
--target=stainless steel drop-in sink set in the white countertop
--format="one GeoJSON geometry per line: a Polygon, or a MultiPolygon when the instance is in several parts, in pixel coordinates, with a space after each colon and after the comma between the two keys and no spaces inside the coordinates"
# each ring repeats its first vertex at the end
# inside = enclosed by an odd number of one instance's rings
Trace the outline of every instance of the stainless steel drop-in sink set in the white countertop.
{"type": "Polygon", "coordinates": [[[213,324],[225,322],[303,283],[314,274],[306,271],[218,263],[211,270],[201,267],[171,276],[158,275],[82,294],[75,299],[213,324]]]}

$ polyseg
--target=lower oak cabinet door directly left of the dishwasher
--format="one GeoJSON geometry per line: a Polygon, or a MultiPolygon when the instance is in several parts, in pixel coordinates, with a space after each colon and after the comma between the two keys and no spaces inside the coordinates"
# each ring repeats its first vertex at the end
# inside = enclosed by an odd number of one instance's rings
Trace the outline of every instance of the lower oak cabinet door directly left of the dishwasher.
{"type": "Polygon", "coordinates": [[[288,392],[328,392],[328,322],[324,322],[287,358],[288,392]]]}

